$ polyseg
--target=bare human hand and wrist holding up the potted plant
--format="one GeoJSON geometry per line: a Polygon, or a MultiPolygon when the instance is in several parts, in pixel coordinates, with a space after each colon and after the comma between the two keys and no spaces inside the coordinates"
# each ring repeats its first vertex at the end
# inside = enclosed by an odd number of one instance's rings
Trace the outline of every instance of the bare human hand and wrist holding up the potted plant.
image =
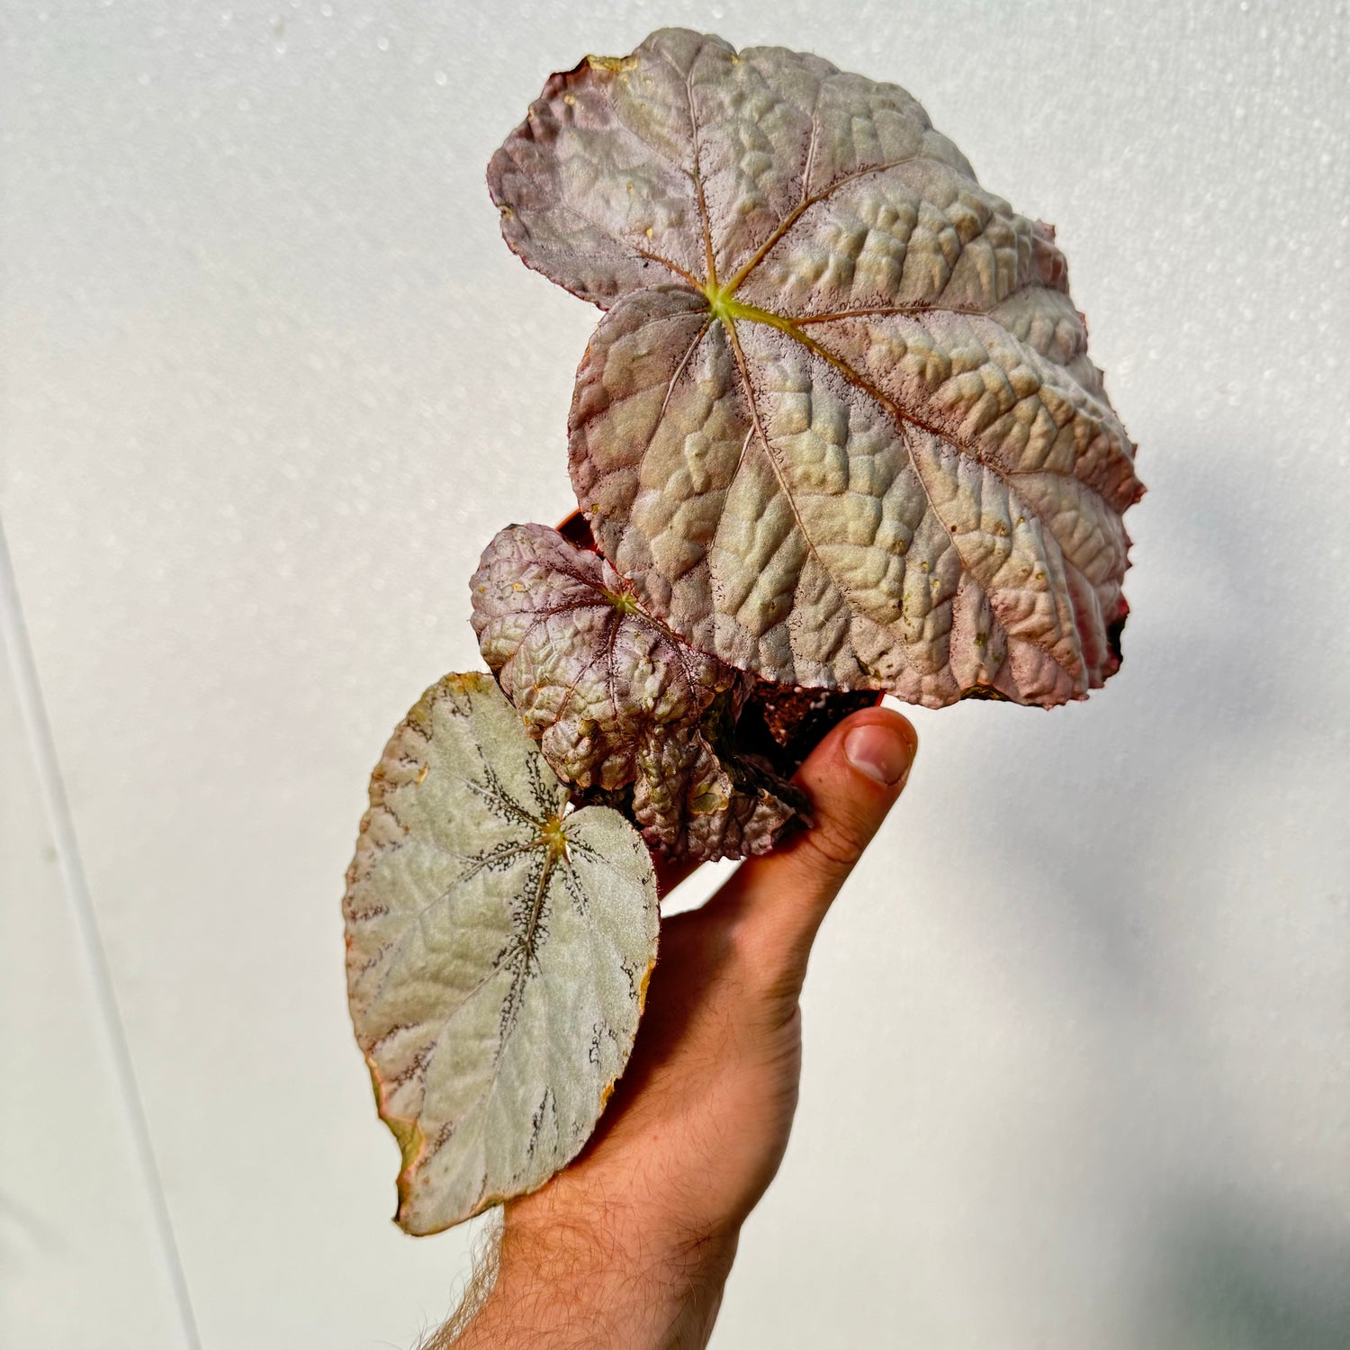
{"type": "MultiPolygon", "coordinates": [[[[842,721],[798,772],[814,826],[662,921],[614,1098],[570,1166],[508,1202],[495,1285],[456,1347],[707,1343],[741,1224],[787,1148],[811,942],[915,745],[898,713],[842,721]]],[[[663,891],[687,871],[663,872],[663,891]]]]}

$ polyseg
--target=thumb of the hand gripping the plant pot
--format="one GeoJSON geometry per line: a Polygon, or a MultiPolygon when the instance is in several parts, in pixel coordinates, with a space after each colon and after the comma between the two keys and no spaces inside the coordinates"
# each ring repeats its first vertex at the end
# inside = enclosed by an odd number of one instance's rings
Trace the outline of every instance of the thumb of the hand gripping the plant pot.
{"type": "Polygon", "coordinates": [[[737,932],[756,983],[801,992],[817,929],[905,788],[918,737],[886,707],[855,713],[798,770],[815,824],[772,853],[748,859],[710,902],[737,932]]]}

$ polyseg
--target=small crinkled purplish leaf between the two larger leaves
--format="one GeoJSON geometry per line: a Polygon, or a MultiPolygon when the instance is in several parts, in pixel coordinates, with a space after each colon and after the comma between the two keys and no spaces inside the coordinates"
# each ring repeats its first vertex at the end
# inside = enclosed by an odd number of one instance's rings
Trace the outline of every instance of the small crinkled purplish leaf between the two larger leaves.
{"type": "Polygon", "coordinates": [[[738,752],[751,679],[655,622],[598,554],[544,525],[510,525],[470,582],[474,630],[549,764],[617,792],[671,857],[772,848],[805,801],[738,752]]]}

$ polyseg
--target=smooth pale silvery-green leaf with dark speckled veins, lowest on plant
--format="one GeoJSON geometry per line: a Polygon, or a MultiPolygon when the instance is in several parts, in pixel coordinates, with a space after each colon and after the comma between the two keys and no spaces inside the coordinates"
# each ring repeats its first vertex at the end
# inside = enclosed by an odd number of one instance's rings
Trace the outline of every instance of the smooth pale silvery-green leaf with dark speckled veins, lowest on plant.
{"type": "Polygon", "coordinates": [[[567,799],[487,675],[429,688],[371,778],[347,983],[409,1233],[541,1185],[628,1061],[656,959],[651,857],[617,811],[567,799]]]}

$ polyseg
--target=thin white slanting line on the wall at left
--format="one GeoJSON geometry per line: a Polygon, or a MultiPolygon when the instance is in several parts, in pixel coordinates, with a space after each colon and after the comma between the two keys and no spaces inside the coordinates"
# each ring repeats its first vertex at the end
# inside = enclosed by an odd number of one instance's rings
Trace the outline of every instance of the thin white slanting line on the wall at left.
{"type": "Polygon", "coordinates": [[[140,1099],[140,1087],[136,1083],[136,1071],[131,1060],[131,1046],[127,1042],[127,1030],[117,1007],[112,973],[108,969],[108,953],[103,945],[103,934],[99,932],[99,919],[94,915],[89,886],[85,880],[80,842],[76,838],[70,803],[66,799],[66,788],[61,778],[61,764],[57,760],[57,748],[51,738],[51,725],[47,721],[42,687],[38,683],[38,668],[32,660],[28,630],[23,621],[19,587],[15,582],[14,566],[9,562],[3,520],[0,520],[0,645],[4,645],[9,653],[9,666],[19,697],[19,716],[28,733],[28,744],[38,772],[38,786],[65,882],[66,900],[80,933],[80,945],[84,949],[85,965],[93,984],[94,1003],[103,1027],[104,1048],[112,1061],[122,1107],[131,1129],[140,1179],[150,1200],[169,1282],[173,1285],[184,1345],[188,1350],[201,1350],[197,1316],[188,1292],[188,1278],[182,1269],[178,1239],[173,1231],[173,1218],[169,1214],[163,1179],[159,1176],[159,1166],[155,1162],[146,1108],[140,1099]]]}

